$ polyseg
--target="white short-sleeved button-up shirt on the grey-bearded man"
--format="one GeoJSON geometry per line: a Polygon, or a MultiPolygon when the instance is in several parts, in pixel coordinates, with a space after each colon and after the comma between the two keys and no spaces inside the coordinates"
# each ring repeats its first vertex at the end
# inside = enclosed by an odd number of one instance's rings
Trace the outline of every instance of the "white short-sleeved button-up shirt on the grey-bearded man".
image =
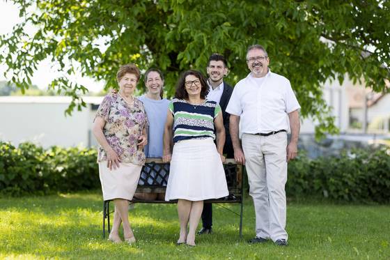
{"type": "Polygon", "coordinates": [[[269,70],[263,78],[241,79],[226,112],[240,116],[240,134],[257,134],[288,130],[288,113],[300,108],[290,81],[269,70]]]}

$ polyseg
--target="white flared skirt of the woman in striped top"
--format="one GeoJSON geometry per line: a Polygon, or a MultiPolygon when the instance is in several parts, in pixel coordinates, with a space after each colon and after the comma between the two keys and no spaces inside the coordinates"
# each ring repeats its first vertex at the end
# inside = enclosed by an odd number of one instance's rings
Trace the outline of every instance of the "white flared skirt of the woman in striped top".
{"type": "Polygon", "coordinates": [[[166,201],[203,201],[228,194],[224,166],[212,139],[183,140],[173,146],[166,201]]]}

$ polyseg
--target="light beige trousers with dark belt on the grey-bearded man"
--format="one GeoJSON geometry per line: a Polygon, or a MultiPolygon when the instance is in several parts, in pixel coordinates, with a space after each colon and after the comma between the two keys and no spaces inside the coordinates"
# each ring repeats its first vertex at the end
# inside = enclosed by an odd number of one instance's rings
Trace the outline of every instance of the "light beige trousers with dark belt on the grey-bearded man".
{"type": "Polygon", "coordinates": [[[288,239],[286,232],[287,133],[242,135],[249,194],[256,212],[256,236],[288,239]]]}

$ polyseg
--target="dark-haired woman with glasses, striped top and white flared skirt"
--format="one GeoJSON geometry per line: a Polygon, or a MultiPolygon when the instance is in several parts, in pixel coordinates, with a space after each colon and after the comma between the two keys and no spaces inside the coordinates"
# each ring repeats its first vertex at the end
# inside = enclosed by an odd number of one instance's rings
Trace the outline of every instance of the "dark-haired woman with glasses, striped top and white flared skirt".
{"type": "Polygon", "coordinates": [[[221,107],[206,100],[207,94],[208,85],[201,72],[182,73],[165,123],[163,160],[171,162],[165,199],[178,199],[178,245],[195,245],[203,200],[228,195],[222,165],[225,130],[221,107]]]}

